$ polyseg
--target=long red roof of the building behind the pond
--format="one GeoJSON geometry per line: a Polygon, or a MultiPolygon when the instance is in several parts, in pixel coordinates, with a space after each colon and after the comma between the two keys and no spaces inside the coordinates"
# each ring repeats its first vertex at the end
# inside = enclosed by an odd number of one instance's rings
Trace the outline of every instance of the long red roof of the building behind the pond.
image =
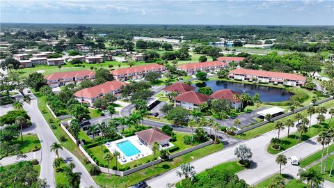
{"type": "Polygon", "coordinates": [[[231,70],[230,73],[238,74],[238,75],[252,75],[257,77],[269,77],[269,78],[280,78],[280,79],[291,79],[291,80],[301,80],[305,81],[305,77],[301,75],[285,73],[285,72],[272,72],[272,71],[264,71],[264,70],[250,70],[250,69],[235,69],[231,70]]]}

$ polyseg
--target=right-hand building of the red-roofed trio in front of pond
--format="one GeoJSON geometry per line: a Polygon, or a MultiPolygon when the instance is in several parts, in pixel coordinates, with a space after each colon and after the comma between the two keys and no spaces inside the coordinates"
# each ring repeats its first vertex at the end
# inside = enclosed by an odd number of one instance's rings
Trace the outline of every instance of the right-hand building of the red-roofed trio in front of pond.
{"type": "Polygon", "coordinates": [[[212,99],[230,100],[231,107],[234,109],[239,109],[241,107],[241,102],[240,100],[235,99],[234,95],[240,95],[240,93],[238,93],[237,91],[232,91],[230,89],[222,89],[212,93],[210,97],[212,99]]]}

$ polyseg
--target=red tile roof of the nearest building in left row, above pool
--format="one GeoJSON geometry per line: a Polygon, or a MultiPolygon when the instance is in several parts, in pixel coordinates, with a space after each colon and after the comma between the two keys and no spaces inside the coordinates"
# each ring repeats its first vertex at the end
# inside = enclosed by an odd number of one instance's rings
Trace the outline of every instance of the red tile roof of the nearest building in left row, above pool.
{"type": "Polygon", "coordinates": [[[121,86],[125,86],[127,83],[122,81],[107,81],[104,84],[100,84],[97,86],[93,86],[91,88],[84,88],[80,91],[74,93],[75,97],[86,97],[86,98],[93,98],[97,97],[98,95],[110,93],[111,91],[118,90],[121,86]]]}

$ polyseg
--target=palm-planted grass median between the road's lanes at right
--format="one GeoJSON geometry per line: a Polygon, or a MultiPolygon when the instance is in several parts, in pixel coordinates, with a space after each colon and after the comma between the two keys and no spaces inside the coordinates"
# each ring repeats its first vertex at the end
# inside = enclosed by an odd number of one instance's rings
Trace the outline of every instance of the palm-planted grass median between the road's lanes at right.
{"type": "Polygon", "coordinates": [[[325,120],[324,123],[321,123],[321,128],[318,130],[318,125],[312,125],[311,128],[308,130],[308,132],[304,133],[303,136],[300,139],[300,132],[296,132],[294,134],[290,134],[289,138],[286,136],[284,138],[281,138],[282,140],[282,146],[280,146],[280,150],[274,150],[272,148],[272,145],[269,145],[267,148],[267,151],[270,154],[278,154],[279,152],[282,152],[283,150],[287,150],[288,148],[291,148],[293,146],[296,146],[299,143],[302,143],[303,141],[307,141],[308,139],[312,138],[313,136],[316,136],[319,134],[319,132],[326,130],[328,127],[334,127],[334,121],[331,122],[331,125],[328,125],[330,119],[325,120]]]}

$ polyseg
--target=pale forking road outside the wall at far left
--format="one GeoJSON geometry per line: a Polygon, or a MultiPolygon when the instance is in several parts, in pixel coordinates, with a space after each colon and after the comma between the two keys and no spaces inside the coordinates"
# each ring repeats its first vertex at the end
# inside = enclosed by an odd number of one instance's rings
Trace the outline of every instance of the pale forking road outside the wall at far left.
{"type": "MultiPolygon", "coordinates": [[[[30,104],[26,102],[24,102],[23,104],[24,109],[31,117],[31,122],[35,126],[35,131],[38,134],[42,145],[40,178],[46,179],[49,187],[56,187],[56,182],[54,180],[54,170],[52,166],[56,154],[54,152],[50,152],[50,146],[52,143],[58,142],[58,140],[56,139],[56,136],[54,136],[54,134],[51,132],[51,129],[47,124],[45,118],[42,116],[42,113],[40,113],[37,105],[38,100],[33,95],[31,95],[30,104]]],[[[80,187],[97,187],[93,178],[89,175],[84,165],[79,162],[79,159],[77,159],[77,157],[72,155],[72,153],[67,151],[65,148],[63,148],[63,150],[59,150],[59,155],[61,155],[61,157],[63,157],[67,162],[74,162],[74,171],[81,173],[80,187]]]]}

